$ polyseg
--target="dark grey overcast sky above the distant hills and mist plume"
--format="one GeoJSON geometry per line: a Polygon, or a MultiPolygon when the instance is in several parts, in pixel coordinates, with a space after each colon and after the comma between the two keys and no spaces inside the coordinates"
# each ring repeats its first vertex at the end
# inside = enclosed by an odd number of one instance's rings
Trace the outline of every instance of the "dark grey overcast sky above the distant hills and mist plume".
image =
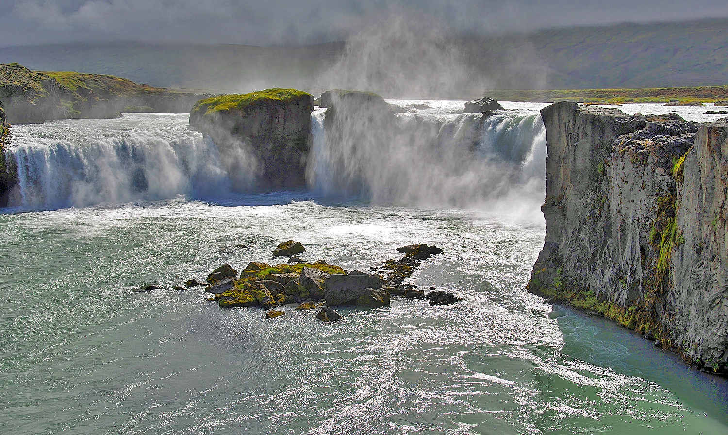
{"type": "Polygon", "coordinates": [[[0,0],[0,46],[67,41],[312,44],[392,14],[453,34],[728,17],[726,0],[0,0]]]}

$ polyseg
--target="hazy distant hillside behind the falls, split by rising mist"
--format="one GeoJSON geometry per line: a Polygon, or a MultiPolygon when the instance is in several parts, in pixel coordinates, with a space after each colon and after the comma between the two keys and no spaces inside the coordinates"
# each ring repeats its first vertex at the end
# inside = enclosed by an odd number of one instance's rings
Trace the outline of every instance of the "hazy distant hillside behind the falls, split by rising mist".
{"type": "MultiPolygon", "coordinates": [[[[563,28],[454,41],[491,89],[604,89],[728,84],[728,20],[563,28]]],[[[0,47],[0,63],[103,73],[156,87],[242,92],[315,89],[344,43],[303,47],[219,44],[55,44],[0,47]]],[[[478,81],[478,80],[474,80],[478,81]]],[[[480,80],[482,81],[482,80],[480,80]]],[[[480,82],[478,81],[478,82],[480,82]]],[[[469,89],[470,90],[470,89],[469,89]]]]}

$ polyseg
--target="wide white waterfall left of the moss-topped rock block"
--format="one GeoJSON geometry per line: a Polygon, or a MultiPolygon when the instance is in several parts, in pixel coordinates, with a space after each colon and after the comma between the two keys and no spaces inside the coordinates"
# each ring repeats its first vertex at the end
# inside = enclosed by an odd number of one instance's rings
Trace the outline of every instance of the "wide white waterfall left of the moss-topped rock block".
{"type": "Polygon", "coordinates": [[[15,161],[20,198],[11,205],[85,207],[229,191],[217,147],[189,131],[186,119],[130,118],[13,127],[7,153],[15,161]]]}

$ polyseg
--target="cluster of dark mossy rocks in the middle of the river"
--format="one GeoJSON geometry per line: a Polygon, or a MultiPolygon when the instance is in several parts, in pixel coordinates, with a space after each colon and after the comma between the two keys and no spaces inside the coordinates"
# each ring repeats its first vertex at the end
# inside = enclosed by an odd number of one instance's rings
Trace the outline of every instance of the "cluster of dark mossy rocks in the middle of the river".
{"type": "MultiPolygon", "coordinates": [[[[389,306],[392,296],[412,299],[427,299],[430,305],[451,305],[461,298],[448,292],[431,291],[427,294],[417,290],[414,284],[405,284],[414,268],[432,255],[442,254],[438,247],[415,244],[397,248],[404,252],[402,260],[387,260],[381,268],[382,275],[363,271],[345,271],[339,266],[318,260],[309,263],[298,257],[291,257],[288,263],[269,265],[251,262],[242,271],[225,263],[216,268],[205,282],[190,279],[183,286],[172,286],[175,290],[186,290],[205,285],[210,293],[209,301],[217,302],[220,308],[260,307],[269,311],[266,317],[274,319],[285,311],[277,309],[288,304],[298,304],[297,311],[320,308],[317,319],[324,322],[342,319],[331,307],[357,306],[380,308],[389,306]]],[[[274,256],[293,255],[305,252],[300,242],[289,240],[278,245],[274,256]]],[[[159,290],[159,284],[150,284],[136,291],[159,290]]],[[[435,287],[430,287],[435,290],[435,287]]]]}

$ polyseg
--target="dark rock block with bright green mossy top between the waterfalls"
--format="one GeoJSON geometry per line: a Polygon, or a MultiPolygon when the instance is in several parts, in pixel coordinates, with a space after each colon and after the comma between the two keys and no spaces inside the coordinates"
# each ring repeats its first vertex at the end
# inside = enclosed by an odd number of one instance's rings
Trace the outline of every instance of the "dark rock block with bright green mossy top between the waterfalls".
{"type": "Polygon", "coordinates": [[[189,123],[218,145],[236,190],[301,188],[312,110],[313,97],[306,92],[266,89],[200,100],[189,123]]]}

